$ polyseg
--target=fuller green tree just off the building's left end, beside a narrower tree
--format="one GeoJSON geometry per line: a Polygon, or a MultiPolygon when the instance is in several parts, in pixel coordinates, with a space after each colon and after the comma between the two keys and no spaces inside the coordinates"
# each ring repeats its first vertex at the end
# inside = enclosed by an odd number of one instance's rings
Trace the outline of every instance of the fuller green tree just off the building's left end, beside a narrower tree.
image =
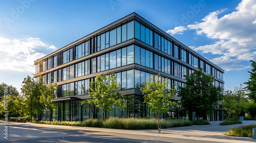
{"type": "Polygon", "coordinates": [[[45,106],[40,102],[41,91],[44,82],[40,78],[39,82],[35,82],[31,77],[27,77],[22,82],[22,100],[23,100],[23,112],[30,115],[30,121],[32,122],[33,114],[40,114],[45,106]]]}

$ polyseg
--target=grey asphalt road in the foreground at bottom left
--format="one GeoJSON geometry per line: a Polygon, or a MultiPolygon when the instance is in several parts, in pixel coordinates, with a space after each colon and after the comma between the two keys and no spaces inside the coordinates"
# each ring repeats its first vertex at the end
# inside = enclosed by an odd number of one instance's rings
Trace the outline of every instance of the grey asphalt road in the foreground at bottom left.
{"type": "MultiPolygon", "coordinates": [[[[0,127],[0,129],[4,129],[3,124],[0,127]]],[[[80,130],[63,126],[37,126],[36,124],[33,126],[23,123],[9,124],[8,139],[5,139],[4,136],[4,134],[0,136],[0,142],[205,142],[205,140],[80,130]]]]}

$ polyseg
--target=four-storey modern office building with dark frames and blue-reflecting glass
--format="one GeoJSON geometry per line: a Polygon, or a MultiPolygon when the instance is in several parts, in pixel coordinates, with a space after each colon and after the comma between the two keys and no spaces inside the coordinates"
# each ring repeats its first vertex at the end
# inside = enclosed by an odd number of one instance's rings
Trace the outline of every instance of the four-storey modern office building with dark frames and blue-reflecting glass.
{"type": "MultiPolygon", "coordinates": [[[[52,118],[60,121],[83,121],[101,118],[103,112],[93,105],[81,105],[88,96],[89,81],[105,73],[114,73],[121,83],[126,101],[125,110],[112,106],[108,116],[155,117],[143,103],[140,85],[153,74],[168,78],[182,86],[184,76],[203,68],[215,77],[215,85],[224,88],[224,70],[186,45],[157,28],[136,13],[129,14],[108,26],[76,40],[34,62],[34,78],[44,77],[49,84],[55,78],[58,92],[53,100],[52,118]],[[58,79],[58,81],[56,80],[58,79]]],[[[163,118],[181,118],[180,108],[162,114],[163,118]]],[[[209,121],[222,120],[221,105],[208,116],[209,121]]]]}

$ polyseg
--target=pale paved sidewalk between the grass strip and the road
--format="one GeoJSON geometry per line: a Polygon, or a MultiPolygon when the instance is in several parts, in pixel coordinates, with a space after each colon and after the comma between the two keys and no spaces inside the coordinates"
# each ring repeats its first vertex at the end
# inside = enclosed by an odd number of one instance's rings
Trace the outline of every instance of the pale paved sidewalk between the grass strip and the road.
{"type": "MultiPolygon", "coordinates": [[[[11,123],[11,124],[27,124],[28,126],[40,126],[49,128],[69,129],[69,130],[90,130],[101,132],[116,132],[125,134],[136,135],[149,135],[160,137],[173,137],[184,139],[195,139],[205,141],[218,141],[218,142],[256,142],[256,139],[248,137],[234,137],[226,136],[229,129],[237,125],[219,126],[219,122],[210,122],[211,125],[194,125],[189,127],[177,127],[162,129],[161,134],[158,130],[119,130],[119,129],[106,129],[106,128],[90,128],[90,127],[75,127],[75,126],[61,126],[61,125],[46,125],[46,124],[33,124],[33,123],[11,123]]],[[[242,125],[256,124],[256,121],[243,121],[242,125]]],[[[241,125],[241,124],[240,124],[241,125]]]]}

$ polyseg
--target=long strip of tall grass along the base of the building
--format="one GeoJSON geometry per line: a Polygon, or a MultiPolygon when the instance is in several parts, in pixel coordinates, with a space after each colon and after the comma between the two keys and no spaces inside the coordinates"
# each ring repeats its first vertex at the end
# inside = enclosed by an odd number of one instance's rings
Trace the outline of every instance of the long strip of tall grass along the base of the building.
{"type": "MultiPolygon", "coordinates": [[[[50,124],[50,122],[45,121],[34,121],[33,123],[38,124],[50,124]]],[[[99,127],[99,128],[110,128],[110,129],[125,129],[125,130],[135,130],[135,129],[158,129],[158,122],[156,118],[118,118],[110,117],[107,120],[101,119],[88,119],[82,122],[51,122],[52,125],[66,125],[66,126],[80,126],[80,127],[99,127]]],[[[192,126],[191,122],[188,120],[161,120],[161,128],[173,128],[173,127],[183,127],[192,126]]]]}

